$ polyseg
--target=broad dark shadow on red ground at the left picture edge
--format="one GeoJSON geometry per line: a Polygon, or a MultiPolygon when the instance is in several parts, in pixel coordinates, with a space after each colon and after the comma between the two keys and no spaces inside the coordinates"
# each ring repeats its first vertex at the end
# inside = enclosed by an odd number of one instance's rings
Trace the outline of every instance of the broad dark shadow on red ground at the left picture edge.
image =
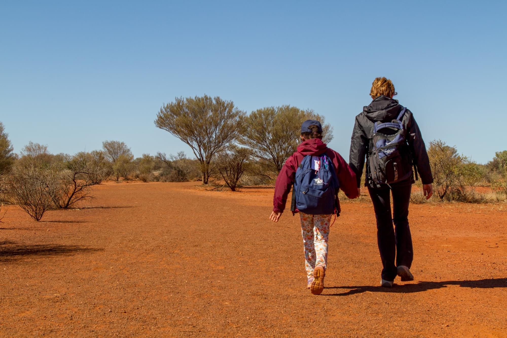
{"type": "Polygon", "coordinates": [[[12,241],[0,242],[0,262],[10,262],[30,256],[74,255],[80,252],[103,251],[79,245],[19,244],[12,241]]]}

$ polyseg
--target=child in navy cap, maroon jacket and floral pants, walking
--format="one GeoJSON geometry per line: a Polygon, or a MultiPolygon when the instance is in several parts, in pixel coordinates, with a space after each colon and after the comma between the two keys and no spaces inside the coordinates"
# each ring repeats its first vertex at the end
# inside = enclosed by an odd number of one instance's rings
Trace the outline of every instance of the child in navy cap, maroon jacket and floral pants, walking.
{"type": "Polygon", "coordinates": [[[328,262],[331,218],[333,214],[340,213],[338,187],[348,198],[356,198],[358,190],[355,174],[347,162],[322,142],[319,121],[303,122],[301,141],[298,150],[285,161],[278,174],[273,212],[269,218],[278,222],[285,209],[288,193],[295,184],[291,211],[293,215],[297,212],[300,214],[307,287],[311,293],[320,294],[324,289],[328,262]]]}

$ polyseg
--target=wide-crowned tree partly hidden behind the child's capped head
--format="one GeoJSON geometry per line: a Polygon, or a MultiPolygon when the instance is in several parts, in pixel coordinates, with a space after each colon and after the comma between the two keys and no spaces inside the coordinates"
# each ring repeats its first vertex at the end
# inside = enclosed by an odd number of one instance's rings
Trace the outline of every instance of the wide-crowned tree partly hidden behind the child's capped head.
{"type": "Polygon", "coordinates": [[[239,143],[253,149],[253,157],[268,176],[277,175],[285,160],[301,143],[301,124],[305,120],[322,124],[324,143],[333,140],[333,127],[324,123],[324,117],[313,110],[292,106],[258,109],[245,120],[239,143]]]}

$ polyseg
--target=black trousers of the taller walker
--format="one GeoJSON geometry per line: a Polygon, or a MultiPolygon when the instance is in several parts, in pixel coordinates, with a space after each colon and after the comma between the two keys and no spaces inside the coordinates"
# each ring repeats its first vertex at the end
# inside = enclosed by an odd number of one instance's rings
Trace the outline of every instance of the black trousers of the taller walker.
{"type": "Polygon", "coordinates": [[[409,228],[409,203],[412,185],[393,186],[391,188],[370,188],[370,196],[377,218],[377,243],[382,260],[382,279],[393,281],[396,277],[396,266],[410,268],[414,251],[409,228]],[[392,192],[392,211],[389,194],[392,192]],[[394,229],[392,224],[394,222],[394,229]],[[396,264],[394,264],[396,258],[396,264]]]}

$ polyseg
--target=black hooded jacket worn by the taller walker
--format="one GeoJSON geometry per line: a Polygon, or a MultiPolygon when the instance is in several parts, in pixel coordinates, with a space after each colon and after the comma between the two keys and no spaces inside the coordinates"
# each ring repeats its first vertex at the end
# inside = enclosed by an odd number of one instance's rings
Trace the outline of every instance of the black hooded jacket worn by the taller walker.
{"type": "MultiPolygon", "coordinates": [[[[374,99],[369,106],[364,107],[363,112],[355,117],[354,131],[352,132],[350,143],[349,165],[355,172],[357,187],[360,187],[363,167],[365,165],[365,157],[368,155],[368,148],[370,146],[370,139],[373,135],[375,122],[390,122],[391,120],[396,119],[402,109],[403,107],[398,103],[398,100],[387,96],[379,96],[374,99]]],[[[402,123],[405,130],[407,130],[406,135],[409,150],[405,152],[406,158],[404,162],[406,162],[407,165],[411,165],[412,162],[416,165],[422,184],[433,183],[426,146],[422,140],[419,126],[409,109],[405,112],[402,118],[402,123]]],[[[391,184],[391,186],[413,184],[414,182],[414,174],[412,173],[407,180],[391,184]]],[[[365,185],[369,185],[372,188],[381,187],[381,185],[369,182],[368,170],[365,185]]]]}

